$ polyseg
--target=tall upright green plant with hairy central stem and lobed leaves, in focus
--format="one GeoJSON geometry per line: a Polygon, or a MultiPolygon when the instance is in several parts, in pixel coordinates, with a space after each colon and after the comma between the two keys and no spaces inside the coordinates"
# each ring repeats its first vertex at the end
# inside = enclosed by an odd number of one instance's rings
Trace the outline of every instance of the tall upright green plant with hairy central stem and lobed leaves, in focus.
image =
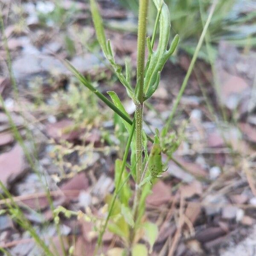
{"type": "Polygon", "coordinates": [[[152,251],[157,239],[157,225],[145,218],[145,200],[154,182],[164,172],[162,163],[160,143],[161,138],[157,131],[154,140],[143,131],[143,108],[144,102],[157,90],[160,81],[160,73],[172,53],[175,51],[179,36],[176,35],[168,48],[170,35],[169,9],[163,0],[153,0],[157,9],[154,31],[152,37],[146,38],[148,0],[140,0],[138,39],[137,39],[137,83],[133,88],[130,83],[130,67],[125,62],[125,72],[116,64],[111,41],[106,39],[102,18],[95,0],[90,0],[90,9],[96,31],[96,37],[105,55],[111,64],[112,70],[123,84],[128,96],[136,106],[133,120],[125,111],[121,100],[113,91],[108,92],[112,102],[102,95],[93,85],[87,81],[69,62],[67,67],[75,76],[91,91],[93,91],[103,102],[115,111],[128,131],[129,137],[122,160],[117,159],[115,164],[115,190],[113,195],[108,195],[108,215],[96,227],[99,231],[95,255],[102,244],[102,236],[108,229],[122,239],[124,248],[123,255],[148,255],[152,251]],[[159,39],[156,50],[154,44],[157,28],[159,27],[159,39]],[[145,48],[148,48],[148,59],[145,64],[145,48]],[[148,141],[153,143],[148,154],[148,141]],[[131,162],[128,163],[128,154],[131,150],[131,162]],[[129,169],[129,172],[127,172],[129,169]],[[130,186],[130,177],[135,181],[135,190],[130,186]],[[131,202],[133,198],[133,204],[131,202]],[[144,238],[148,241],[149,248],[138,241],[144,238]]]}

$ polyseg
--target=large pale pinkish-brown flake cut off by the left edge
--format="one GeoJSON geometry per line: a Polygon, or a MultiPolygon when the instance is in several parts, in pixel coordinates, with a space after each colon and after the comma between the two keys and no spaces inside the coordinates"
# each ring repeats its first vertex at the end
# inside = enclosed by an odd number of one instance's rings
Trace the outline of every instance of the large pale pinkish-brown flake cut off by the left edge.
{"type": "Polygon", "coordinates": [[[16,144],[10,151],[0,154],[0,180],[8,186],[24,174],[27,164],[23,150],[16,144]]]}

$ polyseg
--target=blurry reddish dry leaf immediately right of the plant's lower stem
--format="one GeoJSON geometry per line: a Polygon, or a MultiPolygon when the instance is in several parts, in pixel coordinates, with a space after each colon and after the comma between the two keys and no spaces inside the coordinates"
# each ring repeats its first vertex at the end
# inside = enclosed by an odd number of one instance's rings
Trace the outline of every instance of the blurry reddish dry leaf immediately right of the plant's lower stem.
{"type": "Polygon", "coordinates": [[[167,186],[162,180],[159,180],[152,189],[152,194],[146,199],[146,203],[154,206],[169,203],[173,199],[171,187],[167,186]]]}

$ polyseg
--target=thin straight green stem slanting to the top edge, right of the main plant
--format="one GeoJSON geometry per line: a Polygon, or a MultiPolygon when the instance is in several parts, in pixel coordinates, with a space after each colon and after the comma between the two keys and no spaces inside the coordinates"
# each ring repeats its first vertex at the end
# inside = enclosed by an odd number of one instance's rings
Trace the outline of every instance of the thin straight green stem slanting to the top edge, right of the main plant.
{"type": "Polygon", "coordinates": [[[188,83],[188,81],[189,81],[189,77],[190,77],[190,75],[191,75],[191,73],[192,73],[192,70],[193,70],[193,68],[194,68],[195,61],[197,60],[199,50],[200,50],[200,48],[201,48],[201,46],[202,46],[202,44],[203,44],[204,37],[205,37],[205,35],[206,35],[207,29],[208,29],[208,27],[209,27],[209,24],[210,24],[210,22],[211,22],[212,15],[213,15],[213,12],[214,12],[214,10],[215,10],[215,8],[216,8],[217,3],[218,3],[218,0],[215,0],[215,1],[212,3],[212,6],[211,6],[211,8],[210,8],[207,21],[206,21],[206,23],[205,23],[205,25],[204,25],[203,32],[202,32],[202,34],[201,34],[201,36],[200,36],[200,38],[199,38],[199,41],[198,41],[198,44],[197,44],[197,46],[196,46],[194,55],[193,55],[193,57],[192,57],[192,60],[191,60],[191,62],[190,62],[190,65],[189,65],[189,69],[188,69],[188,71],[187,71],[187,73],[186,73],[186,76],[185,76],[185,78],[184,78],[184,80],[183,80],[183,83],[182,83],[182,85],[181,85],[181,88],[180,88],[180,91],[179,91],[179,93],[178,93],[178,95],[177,95],[177,98],[175,99],[175,102],[174,102],[174,104],[173,104],[173,107],[172,107],[172,111],[171,111],[171,113],[170,113],[170,116],[169,116],[169,118],[168,118],[168,120],[167,120],[167,122],[166,122],[166,128],[167,128],[167,130],[168,130],[168,128],[169,128],[169,125],[170,125],[171,122],[172,122],[173,116],[174,116],[174,114],[175,114],[175,112],[176,112],[176,110],[177,110],[178,104],[180,103],[180,99],[181,99],[181,97],[182,97],[182,95],[183,95],[183,93],[184,93],[184,90],[186,89],[186,85],[187,85],[187,83],[188,83]]]}

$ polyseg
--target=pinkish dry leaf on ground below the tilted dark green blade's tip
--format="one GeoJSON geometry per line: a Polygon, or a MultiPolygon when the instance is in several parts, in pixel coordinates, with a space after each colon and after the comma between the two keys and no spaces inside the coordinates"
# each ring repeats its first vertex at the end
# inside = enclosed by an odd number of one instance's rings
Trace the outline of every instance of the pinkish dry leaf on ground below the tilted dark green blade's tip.
{"type": "Polygon", "coordinates": [[[75,124],[70,119],[62,119],[59,122],[48,124],[46,131],[49,137],[54,140],[73,141],[79,138],[81,129],[75,129],[75,124]]]}

